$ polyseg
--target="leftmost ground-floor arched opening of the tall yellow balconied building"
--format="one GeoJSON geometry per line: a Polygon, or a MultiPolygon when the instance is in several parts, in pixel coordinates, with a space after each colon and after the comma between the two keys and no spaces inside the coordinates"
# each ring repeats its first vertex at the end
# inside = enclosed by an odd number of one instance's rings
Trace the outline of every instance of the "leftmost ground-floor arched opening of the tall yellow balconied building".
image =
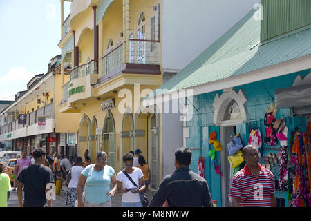
{"type": "MultiPolygon", "coordinates": [[[[90,134],[91,121],[88,116],[84,115],[79,124],[79,153],[78,155],[84,160],[84,152],[89,151],[88,135],[90,134]]],[[[93,159],[91,159],[93,160],[93,159]]]]}

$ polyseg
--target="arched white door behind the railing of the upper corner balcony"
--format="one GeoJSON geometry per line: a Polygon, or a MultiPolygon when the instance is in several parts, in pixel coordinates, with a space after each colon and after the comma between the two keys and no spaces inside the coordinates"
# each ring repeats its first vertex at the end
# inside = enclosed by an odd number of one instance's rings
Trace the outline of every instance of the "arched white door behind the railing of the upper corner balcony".
{"type": "Polygon", "coordinates": [[[140,12],[140,17],[138,19],[137,26],[137,38],[138,38],[138,47],[137,47],[137,62],[138,64],[146,63],[146,47],[145,42],[142,40],[146,39],[146,18],[144,12],[140,12]]]}

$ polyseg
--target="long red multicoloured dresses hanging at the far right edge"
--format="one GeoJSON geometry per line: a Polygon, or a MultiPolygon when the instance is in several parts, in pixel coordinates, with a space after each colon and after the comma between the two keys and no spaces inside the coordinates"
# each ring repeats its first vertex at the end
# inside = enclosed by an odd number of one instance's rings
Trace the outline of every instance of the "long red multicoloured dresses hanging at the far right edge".
{"type": "Polygon", "coordinates": [[[295,174],[292,179],[292,206],[310,207],[310,140],[307,133],[294,133],[294,144],[290,161],[295,166],[295,174]]]}

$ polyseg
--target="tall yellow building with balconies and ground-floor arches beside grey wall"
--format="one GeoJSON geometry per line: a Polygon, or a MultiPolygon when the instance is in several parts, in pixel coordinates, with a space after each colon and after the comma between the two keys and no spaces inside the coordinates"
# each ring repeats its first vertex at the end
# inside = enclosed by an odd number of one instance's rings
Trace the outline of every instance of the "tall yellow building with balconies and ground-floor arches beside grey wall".
{"type": "MultiPolygon", "coordinates": [[[[120,171],[122,155],[140,148],[151,166],[151,189],[161,177],[159,115],[140,99],[162,84],[158,31],[160,1],[72,1],[62,3],[61,113],[79,113],[78,155],[108,153],[120,171]]],[[[70,122],[68,122],[70,124],[70,122]]],[[[162,177],[161,177],[162,178],[162,177]]]]}

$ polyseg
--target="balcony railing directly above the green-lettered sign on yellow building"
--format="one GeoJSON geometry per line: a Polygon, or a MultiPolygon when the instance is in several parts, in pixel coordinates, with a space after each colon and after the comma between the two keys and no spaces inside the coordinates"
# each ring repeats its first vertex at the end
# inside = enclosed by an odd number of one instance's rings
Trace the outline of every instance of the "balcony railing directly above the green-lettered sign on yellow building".
{"type": "Polygon", "coordinates": [[[97,73],[98,73],[98,61],[91,60],[86,64],[75,66],[75,68],[73,68],[70,71],[70,81],[72,81],[73,79],[97,73]]]}

